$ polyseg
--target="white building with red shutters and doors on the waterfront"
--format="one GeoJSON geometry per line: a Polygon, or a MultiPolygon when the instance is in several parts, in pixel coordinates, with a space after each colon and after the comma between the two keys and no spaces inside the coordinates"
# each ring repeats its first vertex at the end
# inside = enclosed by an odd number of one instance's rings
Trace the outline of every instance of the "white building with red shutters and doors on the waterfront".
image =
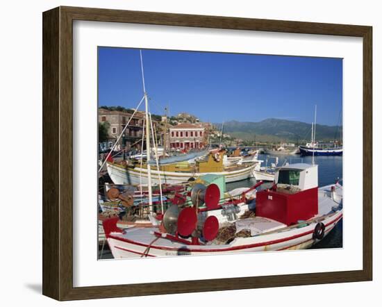
{"type": "Polygon", "coordinates": [[[196,124],[178,124],[169,128],[171,149],[198,149],[204,147],[204,127],[196,124]]]}

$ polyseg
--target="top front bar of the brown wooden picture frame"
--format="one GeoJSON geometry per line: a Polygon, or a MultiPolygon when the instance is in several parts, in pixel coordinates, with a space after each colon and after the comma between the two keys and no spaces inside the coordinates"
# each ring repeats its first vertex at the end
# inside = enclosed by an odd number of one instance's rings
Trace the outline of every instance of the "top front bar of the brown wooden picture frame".
{"type": "Polygon", "coordinates": [[[160,24],[167,26],[192,26],[201,28],[226,28],[282,33],[363,36],[367,26],[349,24],[324,24],[292,22],[272,19],[251,19],[208,15],[154,13],[134,10],[108,10],[101,8],[62,7],[74,20],[97,22],[130,22],[133,24],[160,24]]]}

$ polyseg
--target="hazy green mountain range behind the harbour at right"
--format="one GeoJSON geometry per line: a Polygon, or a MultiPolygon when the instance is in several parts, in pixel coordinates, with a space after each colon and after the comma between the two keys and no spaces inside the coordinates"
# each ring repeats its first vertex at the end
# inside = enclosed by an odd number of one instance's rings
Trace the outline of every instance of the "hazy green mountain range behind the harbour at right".
{"type": "MultiPolygon", "coordinates": [[[[214,124],[218,129],[221,123],[214,124]]],[[[234,138],[242,140],[254,140],[265,142],[310,141],[312,124],[296,122],[287,119],[269,118],[261,122],[224,122],[224,134],[229,134],[234,138]]],[[[316,125],[316,140],[329,141],[339,140],[342,126],[316,125]]]]}

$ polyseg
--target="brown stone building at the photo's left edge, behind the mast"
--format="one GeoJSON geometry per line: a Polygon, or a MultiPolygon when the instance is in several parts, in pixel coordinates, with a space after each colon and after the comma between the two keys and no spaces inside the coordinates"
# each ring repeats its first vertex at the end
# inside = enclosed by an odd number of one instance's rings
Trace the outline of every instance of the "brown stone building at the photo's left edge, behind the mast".
{"type": "MultiPolygon", "coordinates": [[[[98,110],[98,122],[108,122],[110,124],[108,128],[109,141],[115,142],[119,135],[122,133],[124,127],[131,118],[132,113],[116,110],[106,110],[99,108],[98,110]]],[[[152,119],[153,129],[156,130],[158,121],[152,119]]],[[[119,145],[124,148],[134,147],[140,149],[142,145],[142,131],[144,123],[144,112],[138,111],[134,117],[130,120],[128,127],[124,131],[122,138],[119,140],[119,145]]],[[[160,138],[160,135],[157,135],[160,138]]]]}

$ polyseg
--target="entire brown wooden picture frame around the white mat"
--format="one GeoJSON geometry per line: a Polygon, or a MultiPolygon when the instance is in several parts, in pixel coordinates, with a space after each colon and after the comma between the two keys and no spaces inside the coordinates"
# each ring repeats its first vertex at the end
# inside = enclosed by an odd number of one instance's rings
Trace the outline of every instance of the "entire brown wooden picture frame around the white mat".
{"type": "Polygon", "coordinates": [[[43,284],[58,300],[372,280],[372,27],[58,7],[43,13],[43,284]],[[73,21],[122,22],[363,38],[363,269],[131,285],[73,286],[73,21]]]}

